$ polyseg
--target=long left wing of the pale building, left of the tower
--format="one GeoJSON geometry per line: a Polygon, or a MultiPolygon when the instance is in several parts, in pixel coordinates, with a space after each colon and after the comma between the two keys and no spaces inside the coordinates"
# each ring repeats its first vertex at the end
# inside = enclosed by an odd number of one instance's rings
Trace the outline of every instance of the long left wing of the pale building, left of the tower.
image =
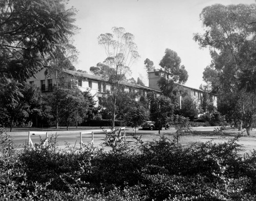
{"type": "MultiPolygon", "coordinates": [[[[61,77],[58,80],[58,83],[60,84],[68,83],[74,80],[77,81],[78,88],[82,92],[90,91],[97,103],[104,95],[106,95],[106,92],[111,89],[111,83],[108,82],[108,79],[88,73],[63,70],[61,75],[58,77],[61,77]]],[[[57,84],[56,77],[53,73],[49,73],[47,69],[42,69],[39,71],[35,76],[29,78],[28,82],[39,87],[44,96],[50,95],[53,91],[53,87],[57,84]]],[[[161,94],[159,90],[135,83],[121,81],[120,85],[122,86],[122,90],[124,92],[136,93],[135,99],[137,101],[139,101],[141,97],[146,97],[147,93],[149,92],[161,94]]]]}

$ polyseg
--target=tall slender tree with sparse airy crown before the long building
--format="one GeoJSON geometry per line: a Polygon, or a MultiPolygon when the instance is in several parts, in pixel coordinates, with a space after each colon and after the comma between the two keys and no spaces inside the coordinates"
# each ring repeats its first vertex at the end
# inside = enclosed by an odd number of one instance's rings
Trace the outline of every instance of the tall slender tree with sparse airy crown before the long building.
{"type": "Polygon", "coordinates": [[[98,43],[104,47],[106,59],[104,64],[114,70],[114,74],[109,77],[109,82],[113,84],[112,96],[112,123],[115,125],[117,90],[120,81],[130,71],[130,66],[139,57],[137,46],[134,42],[134,35],[125,32],[124,28],[112,28],[113,34],[100,34],[98,43]]]}

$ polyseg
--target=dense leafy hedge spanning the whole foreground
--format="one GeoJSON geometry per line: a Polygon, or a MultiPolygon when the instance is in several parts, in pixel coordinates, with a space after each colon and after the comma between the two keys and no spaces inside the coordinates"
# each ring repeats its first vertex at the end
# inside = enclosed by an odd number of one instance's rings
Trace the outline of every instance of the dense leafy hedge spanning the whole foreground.
{"type": "Polygon", "coordinates": [[[256,152],[238,138],[184,147],[162,137],[111,151],[37,145],[16,151],[0,132],[3,200],[255,200],[256,152]]]}

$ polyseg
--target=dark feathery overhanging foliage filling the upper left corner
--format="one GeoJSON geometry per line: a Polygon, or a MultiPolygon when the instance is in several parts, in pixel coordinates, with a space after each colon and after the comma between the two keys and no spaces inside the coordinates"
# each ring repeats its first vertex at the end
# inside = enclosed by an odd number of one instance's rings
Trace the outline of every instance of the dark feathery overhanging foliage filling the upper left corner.
{"type": "Polygon", "coordinates": [[[0,4],[0,75],[23,81],[34,75],[73,34],[75,9],[65,0],[3,0],[0,4]]]}

